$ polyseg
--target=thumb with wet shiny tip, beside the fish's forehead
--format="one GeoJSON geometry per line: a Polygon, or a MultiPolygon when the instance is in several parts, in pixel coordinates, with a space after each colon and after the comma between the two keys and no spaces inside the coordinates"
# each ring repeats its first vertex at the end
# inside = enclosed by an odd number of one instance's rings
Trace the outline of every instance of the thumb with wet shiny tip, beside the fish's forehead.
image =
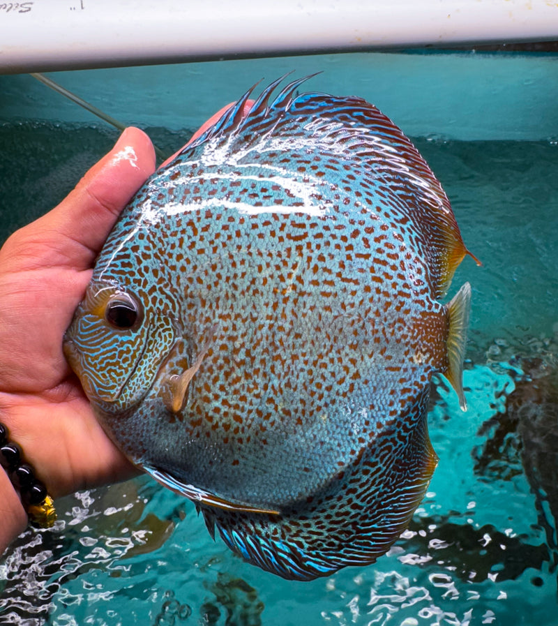
{"type": "Polygon", "coordinates": [[[65,264],[91,267],[123,207],[154,170],[151,140],[138,128],[126,128],[109,154],[31,228],[38,229],[53,255],[63,255],[65,264]]]}

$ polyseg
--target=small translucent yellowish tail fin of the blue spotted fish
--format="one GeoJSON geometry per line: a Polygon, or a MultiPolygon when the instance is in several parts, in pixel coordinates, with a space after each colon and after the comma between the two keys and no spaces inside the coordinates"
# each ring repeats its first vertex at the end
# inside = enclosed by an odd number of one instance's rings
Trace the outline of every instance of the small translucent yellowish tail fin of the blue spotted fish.
{"type": "Polygon", "coordinates": [[[458,394],[459,405],[463,411],[467,410],[462,379],[470,309],[471,285],[465,283],[451,299],[451,302],[446,304],[446,311],[449,317],[449,332],[446,341],[448,368],[444,373],[449,382],[451,382],[453,389],[455,389],[455,393],[458,394]]]}

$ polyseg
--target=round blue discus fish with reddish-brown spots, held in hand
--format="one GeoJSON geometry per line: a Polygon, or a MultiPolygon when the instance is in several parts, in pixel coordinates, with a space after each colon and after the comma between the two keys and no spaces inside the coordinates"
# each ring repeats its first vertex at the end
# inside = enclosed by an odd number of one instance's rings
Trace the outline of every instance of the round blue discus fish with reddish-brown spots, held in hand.
{"type": "MultiPolygon", "coordinates": [[[[310,580],[374,562],[465,408],[468,253],[439,181],[376,107],[252,90],[140,188],[64,340],[106,432],[246,560],[310,580]]],[[[252,88],[253,89],[253,88],[252,88]]]]}

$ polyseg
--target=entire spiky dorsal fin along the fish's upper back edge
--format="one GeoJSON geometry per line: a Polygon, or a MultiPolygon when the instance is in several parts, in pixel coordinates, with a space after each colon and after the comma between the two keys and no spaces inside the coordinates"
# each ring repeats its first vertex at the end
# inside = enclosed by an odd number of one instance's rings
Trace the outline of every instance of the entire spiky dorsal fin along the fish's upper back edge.
{"type": "MultiPolygon", "coordinates": [[[[227,156],[236,161],[242,154],[244,164],[264,167],[269,173],[269,167],[277,165],[277,154],[282,154],[282,163],[287,163],[282,165],[285,176],[296,176],[289,170],[289,157],[295,167],[296,154],[311,158],[313,153],[315,160],[327,163],[333,184],[346,175],[345,167],[352,167],[356,180],[371,190],[370,211],[384,210],[383,218],[407,233],[425,259],[433,295],[442,297],[455,268],[470,253],[441,184],[416,147],[389,117],[363,98],[296,95],[310,76],[290,82],[271,100],[282,78],[266,87],[245,114],[244,105],[256,85],[246,91],[177,158],[195,161],[202,151],[215,150],[216,167],[220,167],[227,156]],[[270,161],[266,152],[274,155],[270,161]]],[[[209,161],[204,158],[206,170],[209,161]]]]}

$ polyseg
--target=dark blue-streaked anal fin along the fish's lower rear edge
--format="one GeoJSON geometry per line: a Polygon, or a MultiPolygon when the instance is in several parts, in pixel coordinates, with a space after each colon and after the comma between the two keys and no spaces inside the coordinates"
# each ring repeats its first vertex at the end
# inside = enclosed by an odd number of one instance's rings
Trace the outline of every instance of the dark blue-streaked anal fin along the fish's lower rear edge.
{"type": "Polygon", "coordinates": [[[429,391],[409,408],[405,442],[395,442],[395,429],[388,429],[310,500],[280,516],[209,507],[202,513],[232,550],[285,579],[312,580],[375,562],[407,528],[437,463],[426,427],[429,391]]]}

